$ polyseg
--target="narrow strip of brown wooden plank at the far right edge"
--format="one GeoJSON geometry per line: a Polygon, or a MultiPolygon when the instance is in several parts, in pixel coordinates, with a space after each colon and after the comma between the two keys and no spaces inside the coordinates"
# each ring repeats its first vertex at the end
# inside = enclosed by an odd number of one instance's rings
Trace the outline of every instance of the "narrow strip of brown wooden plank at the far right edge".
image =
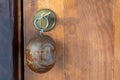
{"type": "Polygon", "coordinates": [[[114,43],[114,80],[120,80],[120,0],[116,0],[114,8],[115,43],[114,43]]]}

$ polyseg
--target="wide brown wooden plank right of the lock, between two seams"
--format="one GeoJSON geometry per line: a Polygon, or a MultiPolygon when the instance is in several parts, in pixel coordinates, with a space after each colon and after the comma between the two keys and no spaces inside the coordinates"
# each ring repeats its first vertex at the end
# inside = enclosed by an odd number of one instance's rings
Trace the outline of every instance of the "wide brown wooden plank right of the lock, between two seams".
{"type": "Polygon", "coordinates": [[[64,13],[64,80],[113,80],[113,0],[65,0],[64,13]]]}

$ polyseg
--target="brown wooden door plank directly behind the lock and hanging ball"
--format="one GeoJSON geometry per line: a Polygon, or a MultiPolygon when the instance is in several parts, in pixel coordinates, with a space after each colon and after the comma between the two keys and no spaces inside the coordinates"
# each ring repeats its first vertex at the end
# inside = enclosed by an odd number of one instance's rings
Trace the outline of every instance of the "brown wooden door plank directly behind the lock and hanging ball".
{"type": "Polygon", "coordinates": [[[54,30],[48,32],[57,43],[57,63],[47,73],[36,74],[32,72],[25,62],[25,80],[63,80],[63,49],[64,49],[64,26],[62,20],[64,18],[64,0],[24,0],[24,41],[25,45],[28,41],[35,36],[39,35],[39,32],[34,28],[33,17],[34,14],[44,8],[53,10],[57,15],[57,24],[54,30]]]}

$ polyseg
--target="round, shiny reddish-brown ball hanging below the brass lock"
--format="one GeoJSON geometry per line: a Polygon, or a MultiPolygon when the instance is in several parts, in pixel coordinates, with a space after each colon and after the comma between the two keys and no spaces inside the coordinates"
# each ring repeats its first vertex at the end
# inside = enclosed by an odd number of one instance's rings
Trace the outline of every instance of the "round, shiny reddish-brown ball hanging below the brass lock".
{"type": "Polygon", "coordinates": [[[39,36],[30,40],[25,53],[27,65],[34,72],[47,72],[55,64],[55,42],[49,36],[39,36]]]}

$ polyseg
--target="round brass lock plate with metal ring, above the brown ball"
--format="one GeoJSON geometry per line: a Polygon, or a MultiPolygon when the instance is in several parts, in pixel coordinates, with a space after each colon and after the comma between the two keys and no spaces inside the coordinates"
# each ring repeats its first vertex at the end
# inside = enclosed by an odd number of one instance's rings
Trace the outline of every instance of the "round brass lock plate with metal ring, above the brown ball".
{"type": "Polygon", "coordinates": [[[34,16],[34,25],[36,29],[44,32],[50,31],[56,24],[56,15],[50,9],[42,9],[34,16]]]}

